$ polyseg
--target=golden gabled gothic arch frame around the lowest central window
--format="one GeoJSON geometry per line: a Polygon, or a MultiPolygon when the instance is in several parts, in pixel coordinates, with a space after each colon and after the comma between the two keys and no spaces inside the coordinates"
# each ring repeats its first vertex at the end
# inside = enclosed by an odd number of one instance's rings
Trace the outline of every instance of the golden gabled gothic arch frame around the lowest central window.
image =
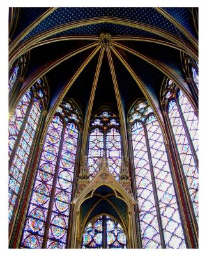
{"type": "MultiPolygon", "coordinates": [[[[104,157],[102,157],[104,159],[104,157]]],[[[93,180],[79,180],[77,192],[72,202],[73,205],[73,227],[72,227],[72,243],[71,248],[81,248],[82,241],[82,221],[81,221],[81,205],[93,198],[96,189],[107,186],[114,191],[116,198],[119,198],[127,205],[127,230],[126,236],[128,239],[127,248],[137,248],[137,239],[135,237],[135,214],[134,205],[137,204],[132,196],[132,191],[125,184],[120,184],[113,175],[109,172],[107,166],[104,164],[100,167],[93,180]]],[[[101,212],[100,212],[101,213],[101,212]]],[[[102,212],[103,213],[103,212],[102,212]]],[[[108,214],[107,212],[105,212],[108,214]]],[[[109,213],[110,214],[110,213],[109,213]]],[[[86,223],[87,220],[84,221],[86,223]]],[[[85,225],[84,225],[85,226],[85,225]]]]}

